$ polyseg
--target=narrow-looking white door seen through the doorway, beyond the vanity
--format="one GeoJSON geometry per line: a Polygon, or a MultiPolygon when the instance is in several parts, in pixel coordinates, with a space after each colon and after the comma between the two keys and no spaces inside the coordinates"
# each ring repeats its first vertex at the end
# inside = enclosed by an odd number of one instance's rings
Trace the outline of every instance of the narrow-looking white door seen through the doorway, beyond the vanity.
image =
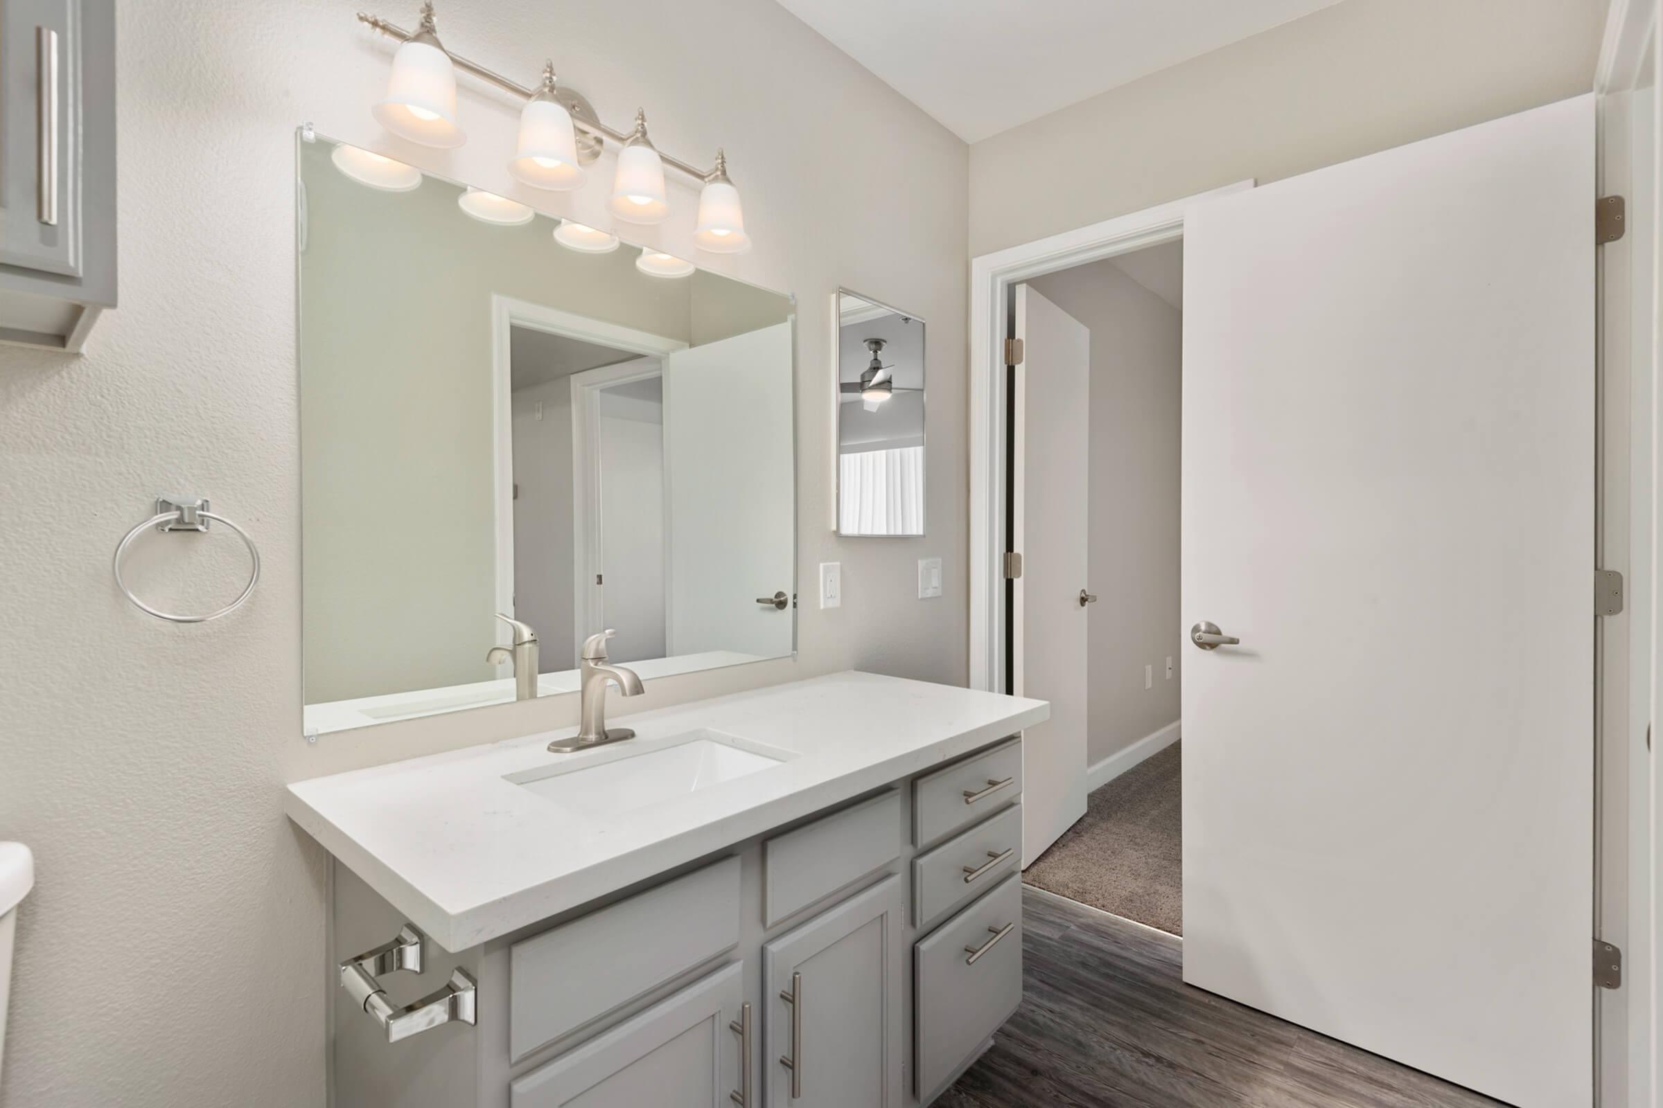
{"type": "Polygon", "coordinates": [[[1013,394],[1011,528],[1023,575],[1011,583],[1011,688],[1051,701],[1023,733],[1023,869],[1086,814],[1086,523],[1091,332],[1016,286],[1023,364],[1013,394]]]}

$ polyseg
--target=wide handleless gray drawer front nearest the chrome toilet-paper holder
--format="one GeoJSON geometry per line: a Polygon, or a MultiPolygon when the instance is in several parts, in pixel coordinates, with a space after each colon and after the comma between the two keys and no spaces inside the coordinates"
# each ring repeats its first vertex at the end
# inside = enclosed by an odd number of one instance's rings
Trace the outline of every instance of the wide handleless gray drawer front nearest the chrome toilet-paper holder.
{"type": "Polygon", "coordinates": [[[738,945],[730,857],[509,949],[509,1057],[652,992],[738,945]]]}

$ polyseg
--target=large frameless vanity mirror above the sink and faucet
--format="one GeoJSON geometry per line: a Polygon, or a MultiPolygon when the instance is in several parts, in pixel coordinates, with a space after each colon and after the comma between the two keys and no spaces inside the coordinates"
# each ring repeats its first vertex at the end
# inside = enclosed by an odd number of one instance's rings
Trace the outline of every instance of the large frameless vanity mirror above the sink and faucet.
{"type": "Polygon", "coordinates": [[[792,297],[298,148],[308,733],[790,655],[792,297]]]}

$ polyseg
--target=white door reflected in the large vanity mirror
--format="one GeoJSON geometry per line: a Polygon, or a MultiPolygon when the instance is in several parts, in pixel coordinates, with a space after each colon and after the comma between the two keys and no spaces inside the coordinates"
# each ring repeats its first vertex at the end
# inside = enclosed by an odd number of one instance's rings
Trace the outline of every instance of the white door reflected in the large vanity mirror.
{"type": "Polygon", "coordinates": [[[664,359],[669,653],[792,653],[792,324],[664,359]]]}

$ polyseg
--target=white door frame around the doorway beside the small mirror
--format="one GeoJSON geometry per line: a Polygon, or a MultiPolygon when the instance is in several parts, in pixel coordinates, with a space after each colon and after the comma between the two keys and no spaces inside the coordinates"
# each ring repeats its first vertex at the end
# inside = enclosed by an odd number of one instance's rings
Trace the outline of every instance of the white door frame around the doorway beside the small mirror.
{"type": "Polygon", "coordinates": [[[970,688],[1006,693],[1004,537],[1006,405],[1004,337],[1013,286],[1146,246],[1184,238],[1184,211],[1251,189],[1237,181],[1104,219],[1086,228],[983,254],[970,262],[970,688]]]}

